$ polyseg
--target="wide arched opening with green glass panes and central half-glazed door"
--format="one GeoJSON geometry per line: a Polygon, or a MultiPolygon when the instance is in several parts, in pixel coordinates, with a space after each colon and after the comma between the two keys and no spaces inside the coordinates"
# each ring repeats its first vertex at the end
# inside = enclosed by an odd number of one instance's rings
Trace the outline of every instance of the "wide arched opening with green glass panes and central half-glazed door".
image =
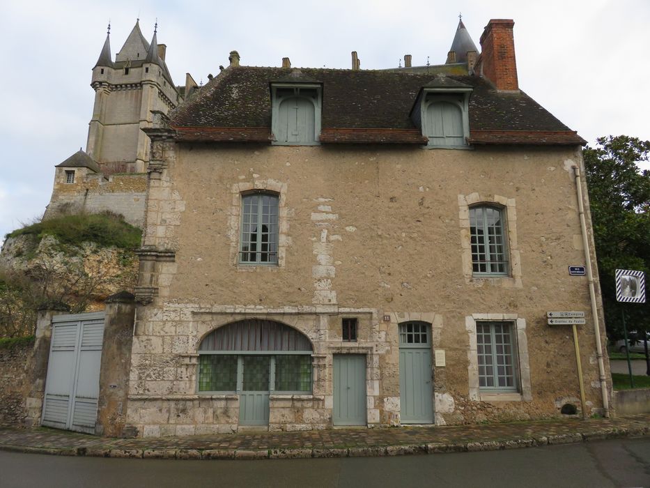
{"type": "Polygon", "coordinates": [[[199,345],[199,394],[236,394],[240,425],[268,425],[269,395],[311,393],[313,348],[284,323],[248,319],[206,335],[199,345]]]}

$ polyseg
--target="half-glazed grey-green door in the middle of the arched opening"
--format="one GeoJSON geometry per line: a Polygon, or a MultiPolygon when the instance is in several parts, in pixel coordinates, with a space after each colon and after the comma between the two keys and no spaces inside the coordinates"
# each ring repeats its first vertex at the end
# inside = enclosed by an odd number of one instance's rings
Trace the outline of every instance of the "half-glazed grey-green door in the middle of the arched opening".
{"type": "Polygon", "coordinates": [[[242,356],[240,425],[268,425],[270,356],[242,356]]]}

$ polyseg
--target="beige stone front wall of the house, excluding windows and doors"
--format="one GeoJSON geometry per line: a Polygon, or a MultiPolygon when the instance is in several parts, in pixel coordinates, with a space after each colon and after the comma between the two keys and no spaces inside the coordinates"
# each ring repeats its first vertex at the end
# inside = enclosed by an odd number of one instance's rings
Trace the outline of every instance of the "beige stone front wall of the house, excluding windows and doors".
{"type": "Polygon", "coordinates": [[[578,380],[571,333],[550,328],[548,310],[586,312],[586,408],[600,411],[587,279],[567,271],[585,264],[579,148],[155,145],[167,167],[150,182],[144,242],[176,254],[141,267],[157,297],[137,312],[132,349],[128,422],[139,435],[237,428],[236,395],[197,395],[197,349],[249,318],[286,323],[314,346],[311,395],[272,395],[270,429],[332,427],[337,353],[366,356],[367,423],[398,425],[398,323],[413,320],[431,323],[432,357],[446,358],[432,371],[436,423],[559,415],[578,402],[578,380]],[[240,194],[254,189],[280,196],[278,266],[238,264],[240,194]],[[472,276],[468,209],[479,202],[505,209],[506,277],[472,276]],[[359,319],[358,342],[341,340],[343,317],[359,319]],[[513,323],[516,394],[479,390],[480,320],[513,323]]]}

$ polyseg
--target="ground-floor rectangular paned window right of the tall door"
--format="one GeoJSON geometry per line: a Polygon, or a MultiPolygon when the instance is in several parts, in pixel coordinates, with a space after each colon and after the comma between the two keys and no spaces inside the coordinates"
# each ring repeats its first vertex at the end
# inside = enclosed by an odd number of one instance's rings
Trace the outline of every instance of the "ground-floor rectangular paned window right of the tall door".
{"type": "Polygon", "coordinates": [[[517,355],[511,322],[477,322],[479,388],[516,391],[517,355]]]}

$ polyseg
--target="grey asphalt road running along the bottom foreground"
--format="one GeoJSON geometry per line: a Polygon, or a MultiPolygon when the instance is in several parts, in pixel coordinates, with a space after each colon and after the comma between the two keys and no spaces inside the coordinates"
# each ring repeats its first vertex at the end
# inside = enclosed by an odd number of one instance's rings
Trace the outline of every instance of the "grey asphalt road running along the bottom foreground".
{"type": "Polygon", "coordinates": [[[177,461],[0,452],[0,487],[650,487],[650,438],[457,454],[177,461]]]}

